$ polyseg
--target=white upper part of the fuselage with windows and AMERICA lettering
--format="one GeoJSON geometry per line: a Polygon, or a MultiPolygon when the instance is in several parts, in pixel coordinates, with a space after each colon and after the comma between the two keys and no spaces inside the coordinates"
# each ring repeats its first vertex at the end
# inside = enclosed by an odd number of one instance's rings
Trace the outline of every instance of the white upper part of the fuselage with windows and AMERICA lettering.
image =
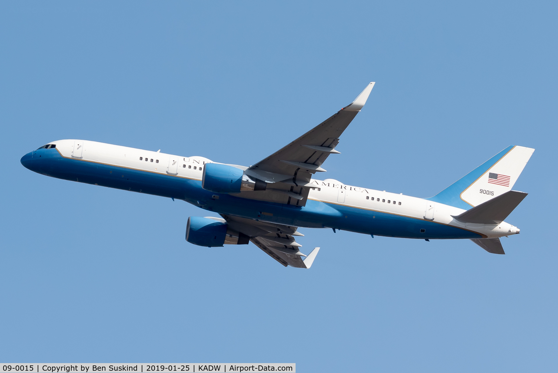
{"type": "MultiPolygon", "coordinates": [[[[74,156],[75,141],[59,140],[52,144],[56,144],[56,149],[64,157],[193,180],[201,180],[204,164],[212,162],[200,156],[177,156],[96,141],[82,141],[83,149],[74,156]]],[[[417,219],[428,218],[429,221],[477,232],[485,238],[513,235],[518,231],[506,222],[462,223],[452,216],[458,216],[464,209],[422,198],[345,185],[334,179],[312,179],[311,183],[316,185],[315,189],[310,189],[308,198],[312,200],[417,219]]]]}

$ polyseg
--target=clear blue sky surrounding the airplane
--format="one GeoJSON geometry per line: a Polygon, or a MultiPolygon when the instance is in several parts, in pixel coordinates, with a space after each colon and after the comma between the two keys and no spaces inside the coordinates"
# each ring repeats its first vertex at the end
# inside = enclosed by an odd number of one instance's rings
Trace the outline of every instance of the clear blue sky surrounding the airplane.
{"type": "Polygon", "coordinates": [[[3,2],[0,361],[296,362],[300,372],[556,363],[555,2],[3,2]],[[186,243],[187,203],[48,178],[81,138],[251,165],[367,106],[324,178],[430,197],[508,145],[507,255],[301,229],[311,270],[186,243]]]}

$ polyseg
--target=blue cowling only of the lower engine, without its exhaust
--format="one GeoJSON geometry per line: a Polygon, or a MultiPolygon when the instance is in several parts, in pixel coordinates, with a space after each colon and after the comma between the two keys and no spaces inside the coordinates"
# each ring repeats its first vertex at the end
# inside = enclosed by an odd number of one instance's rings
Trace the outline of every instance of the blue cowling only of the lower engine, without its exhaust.
{"type": "Polygon", "coordinates": [[[198,246],[222,247],[226,237],[227,224],[200,216],[188,218],[186,241],[198,246]]]}

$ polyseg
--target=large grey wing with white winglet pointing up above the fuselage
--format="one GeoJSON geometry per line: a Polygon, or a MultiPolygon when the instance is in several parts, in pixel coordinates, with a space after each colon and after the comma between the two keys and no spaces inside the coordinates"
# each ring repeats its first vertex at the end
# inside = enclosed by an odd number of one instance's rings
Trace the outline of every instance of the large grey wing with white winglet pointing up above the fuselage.
{"type": "Polygon", "coordinates": [[[325,119],[272,155],[250,166],[244,173],[250,178],[266,181],[266,190],[240,192],[240,197],[304,206],[311,188],[310,178],[323,172],[321,165],[335,150],[339,137],[366,103],[374,82],[333,116],[325,119]]]}

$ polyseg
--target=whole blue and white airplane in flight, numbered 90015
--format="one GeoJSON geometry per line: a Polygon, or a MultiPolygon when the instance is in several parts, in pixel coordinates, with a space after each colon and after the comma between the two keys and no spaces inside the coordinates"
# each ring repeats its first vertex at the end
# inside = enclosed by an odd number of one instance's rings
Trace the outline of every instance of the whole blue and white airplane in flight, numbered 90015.
{"type": "Polygon", "coordinates": [[[527,196],[512,190],[533,151],[508,146],[430,198],[316,179],[341,133],[364,107],[374,82],[355,100],[287,146],[251,166],[88,140],[49,142],[21,164],[54,178],[180,199],[220,217],[189,217],[186,241],[204,247],[254,243],[283,266],[310,268],[299,227],[421,240],[468,239],[505,254],[500,237],[519,228],[504,219],[527,196]]]}

